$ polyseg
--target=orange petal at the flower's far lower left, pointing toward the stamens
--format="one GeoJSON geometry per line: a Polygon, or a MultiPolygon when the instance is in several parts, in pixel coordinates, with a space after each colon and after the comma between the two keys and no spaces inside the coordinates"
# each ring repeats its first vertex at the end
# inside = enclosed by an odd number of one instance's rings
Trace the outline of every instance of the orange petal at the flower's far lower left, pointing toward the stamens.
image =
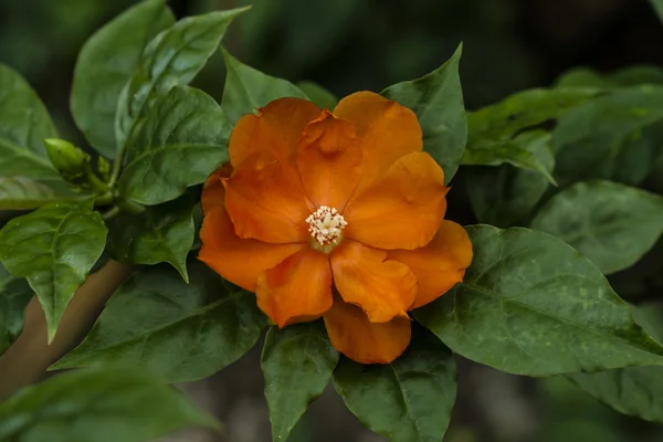
{"type": "Polygon", "coordinates": [[[222,206],[206,214],[200,229],[202,246],[198,259],[233,284],[255,292],[257,277],[304,244],[267,244],[255,240],[242,240],[222,206]]]}

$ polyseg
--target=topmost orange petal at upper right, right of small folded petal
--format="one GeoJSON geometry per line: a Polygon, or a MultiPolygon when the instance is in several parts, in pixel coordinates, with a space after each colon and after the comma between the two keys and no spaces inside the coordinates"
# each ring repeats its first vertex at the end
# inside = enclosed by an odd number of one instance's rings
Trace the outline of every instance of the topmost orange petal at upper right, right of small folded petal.
{"type": "Polygon", "coordinates": [[[379,178],[400,157],[421,151],[421,126],[407,107],[372,92],[357,92],[343,98],[334,115],[355,125],[364,173],[359,188],[379,178]]]}

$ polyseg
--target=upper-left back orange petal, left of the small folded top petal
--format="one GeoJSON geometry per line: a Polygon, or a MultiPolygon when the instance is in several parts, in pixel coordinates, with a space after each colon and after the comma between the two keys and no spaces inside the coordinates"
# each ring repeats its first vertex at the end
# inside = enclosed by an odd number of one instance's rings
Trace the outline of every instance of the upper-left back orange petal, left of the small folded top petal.
{"type": "Polygon", "coordinates": [[[301,98],[278,98],[256,115],[245,115],[230,136],[230,162],[236,169],[255,152],[270,151],[282,164],[293,162],[297,141],[309,122],[320,115],[315,104],[301,98]]]}

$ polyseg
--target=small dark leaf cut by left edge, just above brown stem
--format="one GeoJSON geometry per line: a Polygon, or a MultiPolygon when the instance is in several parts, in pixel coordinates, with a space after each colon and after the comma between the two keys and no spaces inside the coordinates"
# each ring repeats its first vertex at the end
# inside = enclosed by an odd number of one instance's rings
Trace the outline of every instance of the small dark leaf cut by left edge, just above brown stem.
{"type": "Polygon", "coordinates": [[[28,282],[12,276],[0,264],[0,355],[23,330],[23,313],[31,298],[28,282]]]}

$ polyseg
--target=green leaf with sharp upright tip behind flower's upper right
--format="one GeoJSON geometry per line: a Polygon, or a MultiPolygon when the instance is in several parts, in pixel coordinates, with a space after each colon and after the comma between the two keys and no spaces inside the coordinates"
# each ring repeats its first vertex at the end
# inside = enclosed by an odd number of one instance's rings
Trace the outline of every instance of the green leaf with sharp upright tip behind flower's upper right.
{"type": "Polygon", "coordinates": [[[417,114],[423,149],[444,170],[445,182],[455,175],[467,140],[463,88],[459,76],[462,45],[442,66],[421,78],[387,87],[382,95],[417,114]]]}

